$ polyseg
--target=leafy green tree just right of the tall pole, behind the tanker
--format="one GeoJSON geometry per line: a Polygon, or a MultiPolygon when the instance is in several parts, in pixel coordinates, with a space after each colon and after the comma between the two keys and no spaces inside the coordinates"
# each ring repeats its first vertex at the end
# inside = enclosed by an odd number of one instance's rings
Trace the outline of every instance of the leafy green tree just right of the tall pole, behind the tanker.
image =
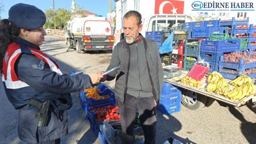
{"type": "Polygon", "coordinates": [[[61,27],[61,23],[64,23],[64,27],[67,21],[71,20],[71,11],[62,8],[58,9],[55,16],[56,20],[56,29],[59,29],[61,27]]]}

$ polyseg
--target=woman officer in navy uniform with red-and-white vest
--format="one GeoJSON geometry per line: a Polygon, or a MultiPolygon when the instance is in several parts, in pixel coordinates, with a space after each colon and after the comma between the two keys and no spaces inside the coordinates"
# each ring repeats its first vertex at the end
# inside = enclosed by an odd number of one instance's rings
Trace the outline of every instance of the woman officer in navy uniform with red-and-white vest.
{"type": "Polygon", "coordinates": [[[60,138],[68,134],[70,93],[90,88],[102,75],[63,75],[58,65],[40,51],[45,22],[45,14],[35,6],[19,3],[10,8],[9,19],[0,22],[0,70],[5,93],[19,110],[19,138],[26,143],[59,144],[60,138]],[[30,105],[31,98],[50,101],[46,126],[38,126],[35,112],[39,109],[30,105]]]}

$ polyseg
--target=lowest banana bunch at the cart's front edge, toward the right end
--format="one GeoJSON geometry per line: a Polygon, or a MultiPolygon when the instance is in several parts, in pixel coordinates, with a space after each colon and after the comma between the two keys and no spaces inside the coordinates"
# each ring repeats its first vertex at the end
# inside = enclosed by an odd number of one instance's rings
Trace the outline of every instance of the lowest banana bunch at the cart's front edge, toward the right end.
{"type": "Polygon", "coordinates": [[[235,87],[234,90],[225,92],[223,95],[231,100],[241,100],[246,96],[246,91],[243,88],[235,87]]]}

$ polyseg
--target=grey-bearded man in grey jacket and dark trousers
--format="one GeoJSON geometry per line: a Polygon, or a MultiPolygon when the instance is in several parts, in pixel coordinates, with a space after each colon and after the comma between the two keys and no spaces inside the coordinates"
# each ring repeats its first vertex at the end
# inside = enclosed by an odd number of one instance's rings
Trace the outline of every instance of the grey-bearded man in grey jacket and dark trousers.
{"type": "MultiPolygon", "coordinates": [[[[141,14],[129,11],[123,18],[125,39],[114,48],[107,70],[119,66],[102,78],[116,77],[115,97],[118,100],[123,131],[122,144],[133,143],[136,107],[145,135],[145,144],[154,144],[157,117],[155,107],[163,86],[163,68],[154,40],[141,34],[141,14]]],[[[98,72],[102,74],[103,72],[98,72]]]]}

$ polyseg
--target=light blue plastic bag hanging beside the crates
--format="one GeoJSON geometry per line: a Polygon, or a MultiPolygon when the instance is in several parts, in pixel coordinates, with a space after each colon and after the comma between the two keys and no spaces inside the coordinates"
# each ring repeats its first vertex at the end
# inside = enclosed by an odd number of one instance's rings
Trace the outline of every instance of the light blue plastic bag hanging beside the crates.
{"type": "Polygon", "coordinates": [[[168,36],[168,38],[163,42],[162,46],[159,49],[160,54],[172,52],[172,41],[174,37],[174,31],[168,36]]]}

